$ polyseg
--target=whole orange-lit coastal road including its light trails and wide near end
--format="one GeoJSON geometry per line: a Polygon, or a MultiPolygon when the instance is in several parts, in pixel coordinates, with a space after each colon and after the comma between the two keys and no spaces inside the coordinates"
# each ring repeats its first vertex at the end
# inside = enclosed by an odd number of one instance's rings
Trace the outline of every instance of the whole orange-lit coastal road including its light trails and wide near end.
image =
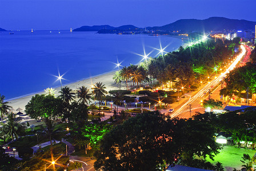
{"type": "MultiPolygon", "coordinates": [[[[227,73],[229,73],[231,70],[237,66],[237,64],[241,61],[243,56],[246,54],[246,47],[244,45],[241,45],[242,52],[237,56],[236,59],[231,61],[230,66],[221,74],[216,75],[213,80],[211,80],[209,83],[207,83],[202,88],[200,87],[200,90],[194,93],[185,93],[185,99],[183,100],[183,103],[178,105],[174,108],[173,113],[169,113],[171,118],[173,117],[179,117],[179,118],[186,118],[195,115],[195,112],[203,112],[205,109],[201,107],[201,100],[208,99],[209,92],[211,92],[211,96],[214,99],[219,99],[218,90],[220,88],[219,83],[221,80],[225,77],[227,73]],[[214,88],[217,88],[215,91],[213,91],[214,88]],[[212,92],[213,91],[213,92],[212,92]],[[190,116],[190,105],[191,105],[191,116],[190,116]]],[[[168,113],[169,109],[163,110],[162,113],[168,113]]]]}

